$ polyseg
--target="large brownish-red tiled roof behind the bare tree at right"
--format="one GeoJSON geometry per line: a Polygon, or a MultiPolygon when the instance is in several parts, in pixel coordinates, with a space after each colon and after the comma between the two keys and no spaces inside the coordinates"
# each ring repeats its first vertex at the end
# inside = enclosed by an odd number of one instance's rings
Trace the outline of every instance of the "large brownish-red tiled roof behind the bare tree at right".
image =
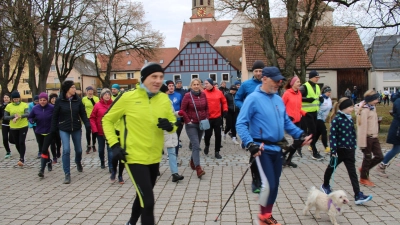
{"type": "MultiPolygon", "coordinates": [[[[280,23],[274,32],[277,34],[275,41],[278,50],[286,55],[284,51],[284,32],[286,25],[282,26],[286,18],[276,18],[273,24],[280,23]]],[[[317,59],[308,66],[308,69],[343,69],[343,68],[370,68],[371,63],[361,43],[360,37],[354,27],[339,26],[320,26],[316,27],[314,33],[310,37],[311,45],[306,62],[309,63],[314,55],[317,59]],[[318,43],[325,44],[317,47],[318,43]],[[317,53],[316,53],[317,52],[317,53]]],[[[255,60],[263,60],[267,62],[267,57],[260,46],[260,38],[255,28],[243,28],[243,43],[246,54],[247,69],[250,70],[255,60]]],[[[281,67],[284,60],[278,60],[281,67]]],[[[297,67],[299,68],[299,60],[297,67]]]]}

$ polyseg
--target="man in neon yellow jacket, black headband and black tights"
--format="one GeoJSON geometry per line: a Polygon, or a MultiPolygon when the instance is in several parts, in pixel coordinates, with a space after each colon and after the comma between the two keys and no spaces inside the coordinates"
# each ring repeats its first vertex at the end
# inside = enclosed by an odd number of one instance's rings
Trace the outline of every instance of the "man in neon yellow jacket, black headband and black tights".
{"type": "MultiPolygon", "coordinates": [[[[154,225],[153,187],[162,158],[164,133],[175,132],[176,117],[168,95],[160,92],[164,71],[148,63],[140,71],[140,87],[119,95],[104,115],[102,125],[114,159],[122,160],[136,188],[132,214],[126,224],[154,225]],[[114,123],[119,124],[120,136],[114,123]]],[[[114,160],[113,159],[113,160],[114,160]]]]}

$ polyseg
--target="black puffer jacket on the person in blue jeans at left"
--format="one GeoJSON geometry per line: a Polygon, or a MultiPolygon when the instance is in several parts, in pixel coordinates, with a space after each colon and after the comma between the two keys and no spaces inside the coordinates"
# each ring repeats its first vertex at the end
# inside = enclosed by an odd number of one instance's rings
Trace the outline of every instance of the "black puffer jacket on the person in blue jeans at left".
{"type": "Polygon", "coordinates": [[[86,129],[90,130],[90,122],[86,116],[85,106],[81,99],[74,95],[71,100],[62,94],[54,104],[54,113],[51,121],[51,131],[55,132],[57,128],[65,132],[80,130],[82,121],[86,129]]]}

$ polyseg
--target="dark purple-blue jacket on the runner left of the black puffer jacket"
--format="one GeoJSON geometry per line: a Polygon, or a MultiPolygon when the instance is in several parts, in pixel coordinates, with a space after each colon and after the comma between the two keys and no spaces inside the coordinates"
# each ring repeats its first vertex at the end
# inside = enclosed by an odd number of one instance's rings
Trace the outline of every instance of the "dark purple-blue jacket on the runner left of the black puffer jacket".
{"type": "Polygon", "coordinates": [[[37,134],[48,134],[51,128],[51,117],[53,116],[54,106],[52,104],[47,104],[44,107],[37,104],[33,107],[32,111],[29,113],[28,120],[29,123],[36,122],[35,133],[37,134]]]}

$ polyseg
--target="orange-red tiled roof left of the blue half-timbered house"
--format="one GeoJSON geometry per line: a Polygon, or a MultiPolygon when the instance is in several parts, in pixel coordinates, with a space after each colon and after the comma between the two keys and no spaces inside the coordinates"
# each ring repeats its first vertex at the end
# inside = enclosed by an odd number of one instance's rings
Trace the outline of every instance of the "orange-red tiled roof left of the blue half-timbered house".
{"type": "MultiPolygon", "coordinates": [[[[177,48],[158,48],[155,49],[154,56],[146,59],[148,62],[156,62],[161,64],[165,68],[171,60],[178,54],[177,48]],[[160,61],[163,60],[163,63],[160,61]]],[[[107,69],[107,55],[98,55],[98,60],[101,65],[101,71],[107,69]]],[[[112,71],[137,71],[140,70],[145,59],[140,57],[139,54],[134,50],[127,50],[117,54],[112,63],[112,71]],[[130,64],[128,62],[130,61],[130,64]]]]}

